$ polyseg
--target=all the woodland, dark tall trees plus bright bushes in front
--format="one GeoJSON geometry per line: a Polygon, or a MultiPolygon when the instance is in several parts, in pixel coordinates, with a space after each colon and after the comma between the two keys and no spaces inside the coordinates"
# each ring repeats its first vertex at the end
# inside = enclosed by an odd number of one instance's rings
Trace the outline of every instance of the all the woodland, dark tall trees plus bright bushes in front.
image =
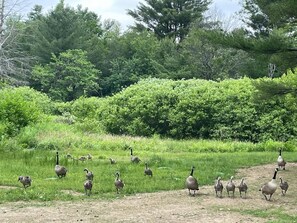
{"type": "Polygon", "coordinates": [[[206,14],[210,0],[146,0],[127,9],[135,23],[124,32],[63,0],[48,12],[35,5],[25,19],[8,3],[0,3],[2,145],[42,122],[114,135],[295,142],[293,0],[244,0],[244,25],[232,29],[206,14]]]}

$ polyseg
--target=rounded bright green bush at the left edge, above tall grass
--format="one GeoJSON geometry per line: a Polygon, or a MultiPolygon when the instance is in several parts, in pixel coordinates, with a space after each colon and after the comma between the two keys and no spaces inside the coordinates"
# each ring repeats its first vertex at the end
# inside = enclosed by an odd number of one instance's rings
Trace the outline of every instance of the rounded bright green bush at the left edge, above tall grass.
{"type": "MultiPolygon", "coordinates": [[[[27,87],[0,90],[0,134],[15,136],[20,129],[50,113],[49,98],[27,87]]],[[[1,139],[0,139],[1,140],[1,139]]]]}

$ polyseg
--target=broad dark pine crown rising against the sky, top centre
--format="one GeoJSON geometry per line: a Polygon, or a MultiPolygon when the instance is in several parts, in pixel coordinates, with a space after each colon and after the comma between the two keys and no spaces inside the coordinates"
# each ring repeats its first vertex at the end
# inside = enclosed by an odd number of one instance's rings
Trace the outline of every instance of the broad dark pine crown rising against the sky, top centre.
{"type": "Polygon", "coordinates": [[[148,29],[159,38],[170,37],[182,41],[190,25],[202,19],[209,0],[145,0],[136,10],[128,10],[135,22],[135,29],[148,29]]]}

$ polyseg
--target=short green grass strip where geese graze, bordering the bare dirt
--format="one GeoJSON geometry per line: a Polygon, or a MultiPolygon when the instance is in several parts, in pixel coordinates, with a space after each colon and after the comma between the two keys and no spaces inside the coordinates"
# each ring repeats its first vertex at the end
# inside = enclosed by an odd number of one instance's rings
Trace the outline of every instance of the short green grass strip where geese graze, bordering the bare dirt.
{"type": "MultiPolygon", "coordinates": [[[[166,152],[137,150],[135,153],[143,161],[132,164],[128,150],[82,150],[73,151],[74,156],[93,155],[92,161],[67,160],[66,153],[60,152],[60,163],[68,169],[67,176],[58,179],[54,172],[55,151],[23,150],[19,152],[2,152],[0,163],[0,185],[16,186],[17,189],[0,190],[1,202],[18,200],[77,200],[86,199],[83,195],[83,183],[87,167],[94,172],[93,196],[91,198],[112,199],[115,194],[114,173],[120,171],[125,182],[123,194],[142,192],[155,192],[184,188],[185,178],[189,175],[191,166],[196,167],[194,175],[200,185],[212,184],[217,176],[228,179],[241,167],[271,163],[276,160],[274,152],[236,152],[236,153],[195,153],[195,152],[166,152]],[[108,157],[112,156],[118,162],[109,163],[108,157]],[[144,162],[148,162],[154,176],[144,176],[144,162]],[[33,179],[32,186],[26,190],[17,181],[20,175],[30,175],[33,179]],[[68,194],[63,191],[78,192],[81,196],[68,194]]],[[[288,153],[287,153],[288,154],[288,153]]],[[[296,152],[287,155],[296,157],[296,152]]]]}

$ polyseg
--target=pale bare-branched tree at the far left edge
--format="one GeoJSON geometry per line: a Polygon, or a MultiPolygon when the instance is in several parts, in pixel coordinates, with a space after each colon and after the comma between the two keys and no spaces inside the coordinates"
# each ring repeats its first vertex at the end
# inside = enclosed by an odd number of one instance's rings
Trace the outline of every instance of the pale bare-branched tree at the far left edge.
{"type": "Polygon", "coordinates": [[[0,81],[22,84],[30,69],[31,57],[22,51],[20,41],[24,26],[15,12],[21,1],[13,5],[0,1],[0,81]]]}

